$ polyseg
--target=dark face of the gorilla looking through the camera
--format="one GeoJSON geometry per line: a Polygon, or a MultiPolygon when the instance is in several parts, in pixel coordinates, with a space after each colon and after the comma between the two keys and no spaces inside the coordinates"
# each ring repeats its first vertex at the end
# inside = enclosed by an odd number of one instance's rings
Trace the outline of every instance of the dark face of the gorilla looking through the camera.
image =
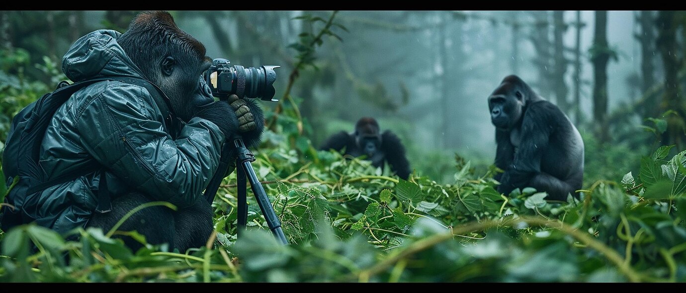
{"type": "Polygon", "coordinates": [[[156,84],[167,94],[176,116],[184,121],[193,118],[193,106],[214,101],[209,86],[202,78],[211,63],[209,58],[197,60],[191,56],[167,56],[161,62],[161,75],[156,84]],[[195,59],[195,60],[193,60],[195,59]]]}

